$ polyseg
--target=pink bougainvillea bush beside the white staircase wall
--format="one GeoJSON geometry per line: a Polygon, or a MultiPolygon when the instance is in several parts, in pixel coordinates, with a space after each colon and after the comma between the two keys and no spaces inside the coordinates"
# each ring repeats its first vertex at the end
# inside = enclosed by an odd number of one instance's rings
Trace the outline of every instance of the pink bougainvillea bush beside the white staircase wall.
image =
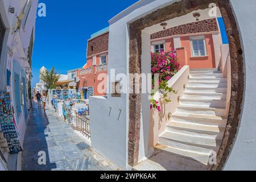
{"type": "MultiPolygon", "coordinates": [[[[152,73],[152,88],[154,88],[155,77],[154,74],[158,74],[159,89],[167,92],[174,92],[172,88],[168,88],[167,81],[174,76],[179,70],[180,64],[177,60],[176,51],[161,51],[151,53],[151,73],[152,73]]],[[[154,94],[154,93],[153,93],[154,94]]],[[[161,110],[159,102],[154,99],[151,100],[150,108],[161,110]]]]}

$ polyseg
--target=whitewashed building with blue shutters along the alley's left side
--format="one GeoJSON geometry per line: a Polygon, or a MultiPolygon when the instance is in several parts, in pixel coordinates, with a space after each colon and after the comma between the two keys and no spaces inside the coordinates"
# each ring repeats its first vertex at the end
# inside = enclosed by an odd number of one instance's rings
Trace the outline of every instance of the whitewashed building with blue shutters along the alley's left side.
{"type": "MultiPolygon", "coordinates": [[[[0,91],[9,92],[20,146],[31,109],[31,65],[38,0],[0,0],[0,91]]],[[[21,155],[0,151],[0,169],[20,169],[21,155]]]]}

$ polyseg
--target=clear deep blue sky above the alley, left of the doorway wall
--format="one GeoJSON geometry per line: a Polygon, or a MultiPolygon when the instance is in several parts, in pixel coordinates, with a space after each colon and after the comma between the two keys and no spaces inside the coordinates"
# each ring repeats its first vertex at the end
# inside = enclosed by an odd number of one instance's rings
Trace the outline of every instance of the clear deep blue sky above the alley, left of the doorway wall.
{"type": "Polygon", "coordinates": [[[60,74],[82,67],[90,35],[109,26],[109,19],[137,1],[39,0],[46,4],[46,17],[36,18],[32,86],[39,81],[43,65],[54,66],[60,74]]]}

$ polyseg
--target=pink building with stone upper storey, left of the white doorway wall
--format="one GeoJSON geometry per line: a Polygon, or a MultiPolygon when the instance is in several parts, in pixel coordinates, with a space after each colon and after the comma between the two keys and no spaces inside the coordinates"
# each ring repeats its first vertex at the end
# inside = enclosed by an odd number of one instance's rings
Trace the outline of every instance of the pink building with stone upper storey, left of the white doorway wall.
{"type": "Polygon", "coordinates": [[[105,31],[88,40],[87,61],[77,71],[79,90],[84,97],[105,96],[108,75],[108,40],[109,32],[105,31]]]}

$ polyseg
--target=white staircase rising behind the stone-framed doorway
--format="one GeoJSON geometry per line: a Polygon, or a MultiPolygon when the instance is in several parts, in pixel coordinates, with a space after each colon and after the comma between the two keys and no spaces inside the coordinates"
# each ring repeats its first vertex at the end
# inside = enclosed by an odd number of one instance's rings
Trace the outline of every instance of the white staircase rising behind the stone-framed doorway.
{"type": "Polygon", "coordinates": [[[208,166],[226,127],[227,80],[213,69],[191,71],[176,112],[159,137],[156,150],[208,166]]]}

